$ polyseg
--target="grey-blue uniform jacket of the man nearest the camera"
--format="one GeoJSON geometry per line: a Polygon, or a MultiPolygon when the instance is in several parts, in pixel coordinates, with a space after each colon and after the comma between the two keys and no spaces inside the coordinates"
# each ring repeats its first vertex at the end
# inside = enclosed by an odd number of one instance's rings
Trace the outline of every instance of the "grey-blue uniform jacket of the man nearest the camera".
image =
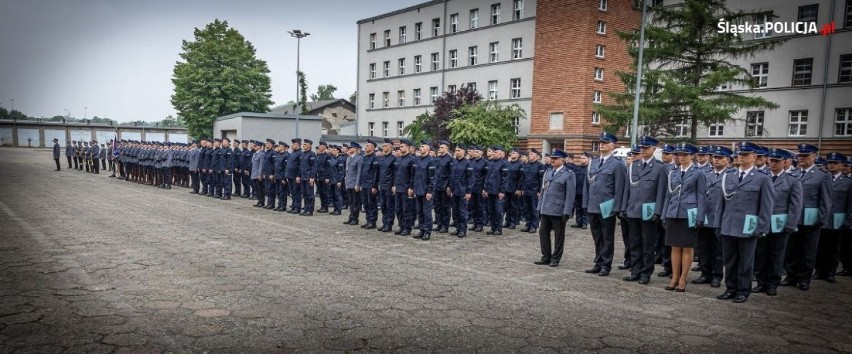
{"type": "Polygon", "coordinates": [[[722,198],[716,203],[715,222],[720,225],[724,236],[751,237],[755,233],[769,233],[770,219],[775,208],[775,193],[769,176],[752,169],[739,182],[739,169],[733,169],[723,175],[722,198]],[[746,216],[757,217],[754,233],[745,234],[746,216]]]}

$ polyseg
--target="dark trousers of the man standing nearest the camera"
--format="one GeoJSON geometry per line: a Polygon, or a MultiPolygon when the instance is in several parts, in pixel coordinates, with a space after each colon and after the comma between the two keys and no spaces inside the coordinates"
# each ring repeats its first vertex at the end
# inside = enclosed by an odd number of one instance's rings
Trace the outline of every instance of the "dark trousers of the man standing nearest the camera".
{"type": "Polygon", "coordinates": [[[737,294],[751,293],[754,275],[754,250],[757,237],[722,235],[722,255],[725,258],[725,288],[737,294]]]}

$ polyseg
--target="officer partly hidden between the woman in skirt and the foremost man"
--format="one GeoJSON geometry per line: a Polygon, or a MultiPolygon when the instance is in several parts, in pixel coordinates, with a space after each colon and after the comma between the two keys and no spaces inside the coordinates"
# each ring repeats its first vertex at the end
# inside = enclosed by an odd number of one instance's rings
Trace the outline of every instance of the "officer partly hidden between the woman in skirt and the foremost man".
{"type": "Polygon", "coordinates": [[[722,198],[722,175],[731,171],[728,164],[731,162],[733,152],[724,146],[710,146],[711,157],[710,171],[705,173],[707,183],[706,196],[704,197],[704,213],[707,221],[711,221],[704,227],[698,229],[698,246],[695,251],[698,254],[698,270],[701,276],[692,280],[693,284],[710,284],[718,288],[722,284],[722,239],[719,227],[712,224],[716,219],[716,203],[722,198]]]}

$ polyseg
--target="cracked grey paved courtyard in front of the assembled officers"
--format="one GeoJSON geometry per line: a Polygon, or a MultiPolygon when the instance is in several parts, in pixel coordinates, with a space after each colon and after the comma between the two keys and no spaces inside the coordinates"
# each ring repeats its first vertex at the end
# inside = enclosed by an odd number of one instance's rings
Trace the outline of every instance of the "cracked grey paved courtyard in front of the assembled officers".
{"type": "Polygon", "coordinates": [[[0,149],[0,353],[852,352],[852,278],[734,304],[583,273],[588,230],[541,267],[515,230],[424,242],[61,162],[0,149]]]}

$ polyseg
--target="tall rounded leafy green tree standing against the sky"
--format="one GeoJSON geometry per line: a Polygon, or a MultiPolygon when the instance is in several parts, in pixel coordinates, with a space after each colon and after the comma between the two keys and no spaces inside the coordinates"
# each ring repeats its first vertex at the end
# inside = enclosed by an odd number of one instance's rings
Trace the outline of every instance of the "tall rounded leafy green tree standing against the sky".
{"type": "Polygon", "coordinates": [[[269,68],[255,48],[227,21],[196,28],[183,41],[175,64],[172,105],[193,137],[211,137],[213,121],[237,112],[268,112],[272,105],[269,68]]]}

